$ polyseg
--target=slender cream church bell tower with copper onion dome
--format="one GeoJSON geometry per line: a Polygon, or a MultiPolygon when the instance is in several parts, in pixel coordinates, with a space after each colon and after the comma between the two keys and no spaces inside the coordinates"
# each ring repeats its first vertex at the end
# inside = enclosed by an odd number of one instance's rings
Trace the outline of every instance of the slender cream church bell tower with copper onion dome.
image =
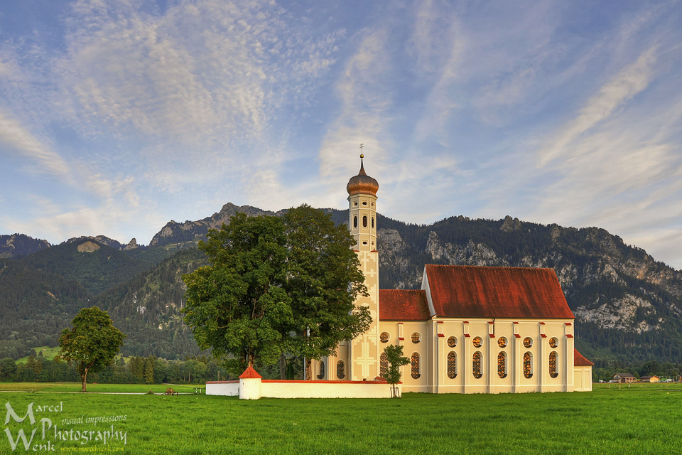
{"type": "Polygon", "coordinates": [[[355,238],[355,252],[364,274],[369,296],[359,296],[357,306],[367,306],[372,316],[369,330],[350,343],[351,380],[373,380],[379,375],[379,252],[377,251],[377,191],[379,183],[364,171],[364,155],[360,155],[360,171],[348,181],[348,227],[355,238]]]}

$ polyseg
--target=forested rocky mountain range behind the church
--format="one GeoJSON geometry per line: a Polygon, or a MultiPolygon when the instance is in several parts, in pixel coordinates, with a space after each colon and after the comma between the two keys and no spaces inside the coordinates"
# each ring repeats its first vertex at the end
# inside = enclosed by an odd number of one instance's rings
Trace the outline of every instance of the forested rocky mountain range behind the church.
{"type": "MultiPolygon", "coordinates": [[[[347,211],[323,209],[336,223],[347,211]]],[[[205,264],[198,240],[237,212],[228,203],[196,221],[168,222],[149,245],[77,237],[50,245],[0,236],[0,358],[55,346],[82,306],[107,309],[128,335],[127,355],[199,353],[181,317],[183,273],[205,264]]],[[[597,367],[682,358],[682,272],[600,228],[564,228],[507,216],[413,225],[377,216],[382,289],[416,289],[424,264],[551,267],[576,319],[578,349],[597,367]]],[[[21,355],[19,355],[21,354],[21,355]]]]}

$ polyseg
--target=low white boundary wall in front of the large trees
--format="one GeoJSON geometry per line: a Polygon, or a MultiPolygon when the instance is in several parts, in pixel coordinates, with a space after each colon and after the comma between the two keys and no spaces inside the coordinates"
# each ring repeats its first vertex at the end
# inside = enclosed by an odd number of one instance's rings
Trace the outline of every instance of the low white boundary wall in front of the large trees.
{"type": "MultiPolygon", "coordinates": [[[[397,385],[399,393],[401,384],[397,385]]],[[[242,400],[269,398],[390,398],[391,385],[385,381],[287,381],[242,378],[237,381],[206,382],[206,395],[223,395],[242,400]]]]}

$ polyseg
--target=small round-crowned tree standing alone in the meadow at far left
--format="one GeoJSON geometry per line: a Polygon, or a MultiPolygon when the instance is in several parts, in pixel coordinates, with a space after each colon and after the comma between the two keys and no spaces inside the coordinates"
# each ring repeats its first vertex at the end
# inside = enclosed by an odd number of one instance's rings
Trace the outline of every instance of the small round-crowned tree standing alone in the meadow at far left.
{"type": "Polygon", "coordinates": [[[114,327],[107,311],[97,306],[78,311],[71,324],[59,337],[59,355],[69,365],[76,363],[85,392],[87,373],[111,365],[126,336],[114,327]]]}

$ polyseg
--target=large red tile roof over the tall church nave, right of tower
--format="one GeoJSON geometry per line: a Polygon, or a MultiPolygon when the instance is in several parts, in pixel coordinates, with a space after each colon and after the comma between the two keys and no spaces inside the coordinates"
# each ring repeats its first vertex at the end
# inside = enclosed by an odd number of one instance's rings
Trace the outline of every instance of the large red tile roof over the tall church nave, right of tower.
{"type": "Polygon", "coordinates": [[[554,269],[427,264],[426,276],[440,317],[574,319],[554,269]]]}

